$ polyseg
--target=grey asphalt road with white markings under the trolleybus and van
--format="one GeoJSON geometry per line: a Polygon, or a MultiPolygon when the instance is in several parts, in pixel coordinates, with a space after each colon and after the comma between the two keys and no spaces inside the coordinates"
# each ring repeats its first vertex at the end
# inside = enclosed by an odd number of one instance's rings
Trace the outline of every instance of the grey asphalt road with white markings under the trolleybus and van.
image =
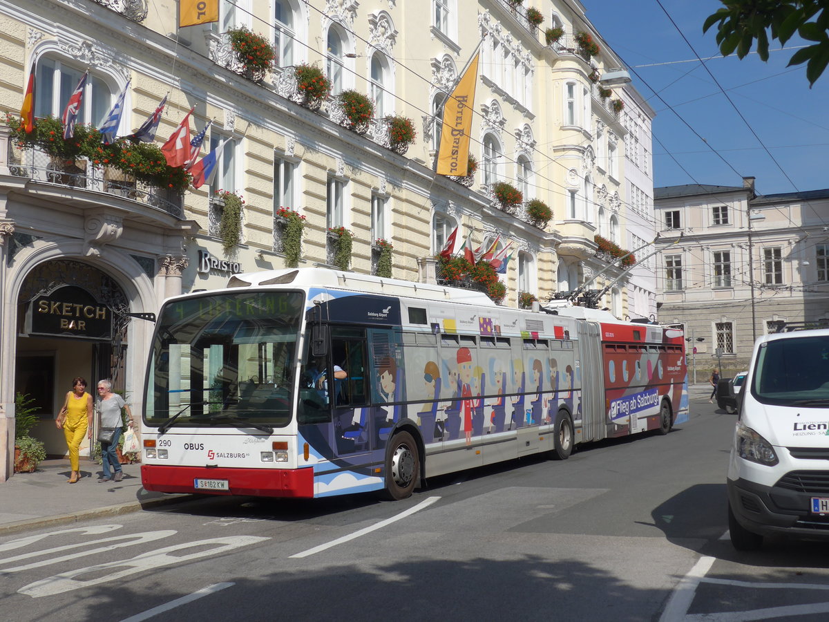
{"type": "Polygon", "coordinates": [[[827,547],[723,540],[735,415],[433,479],[0,539],[3,620],[826,620],[827,547]]]}

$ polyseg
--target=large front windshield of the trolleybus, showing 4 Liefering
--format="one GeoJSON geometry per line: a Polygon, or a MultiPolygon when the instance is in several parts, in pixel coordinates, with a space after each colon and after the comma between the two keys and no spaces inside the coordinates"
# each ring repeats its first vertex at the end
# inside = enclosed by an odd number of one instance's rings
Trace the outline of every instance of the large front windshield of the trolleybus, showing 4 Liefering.
{"type": "Polygon", "coordinates": [[[288,425],[303,304],[302,293],[284,291],[165,304],[150,357],[148,423],[288,425]]]}

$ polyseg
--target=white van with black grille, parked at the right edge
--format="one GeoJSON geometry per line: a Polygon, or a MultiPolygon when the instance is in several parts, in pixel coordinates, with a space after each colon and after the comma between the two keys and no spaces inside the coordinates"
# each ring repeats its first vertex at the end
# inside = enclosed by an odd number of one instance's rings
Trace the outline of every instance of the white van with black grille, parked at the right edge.
{"type": "Polygon", "coordinates": [[[829,540],[829,329],[759,338],[738,403],[734,547],[758,548],[772,533],[829,540]]]}

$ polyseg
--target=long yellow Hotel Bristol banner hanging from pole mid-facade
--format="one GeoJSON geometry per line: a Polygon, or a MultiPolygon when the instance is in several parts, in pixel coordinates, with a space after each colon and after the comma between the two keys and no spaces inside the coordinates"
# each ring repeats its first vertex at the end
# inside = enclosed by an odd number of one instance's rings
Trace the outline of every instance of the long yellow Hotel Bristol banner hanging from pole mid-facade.
{"type": "Polygon", "coordinates": [[[476,54],[458,86],[444,104],[444,123],[440,130],[438,149],[439,175],[465,177],[469,161],[469,131],[472,129],[475,85],[478,83],[476,54]]]}

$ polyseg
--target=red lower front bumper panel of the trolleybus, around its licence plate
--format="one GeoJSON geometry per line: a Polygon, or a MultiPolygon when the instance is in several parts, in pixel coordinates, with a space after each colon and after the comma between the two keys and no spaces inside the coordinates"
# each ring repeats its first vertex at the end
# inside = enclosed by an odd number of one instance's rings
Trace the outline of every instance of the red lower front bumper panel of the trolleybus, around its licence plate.
{"type": "Polygon", "coordinates": [[[313,469],[206,469],[142,464],[141,483],[158,493],[313,497],[313,469]],[[195,488],[195,479],[226,479],[229,490],[195,488]]]}

